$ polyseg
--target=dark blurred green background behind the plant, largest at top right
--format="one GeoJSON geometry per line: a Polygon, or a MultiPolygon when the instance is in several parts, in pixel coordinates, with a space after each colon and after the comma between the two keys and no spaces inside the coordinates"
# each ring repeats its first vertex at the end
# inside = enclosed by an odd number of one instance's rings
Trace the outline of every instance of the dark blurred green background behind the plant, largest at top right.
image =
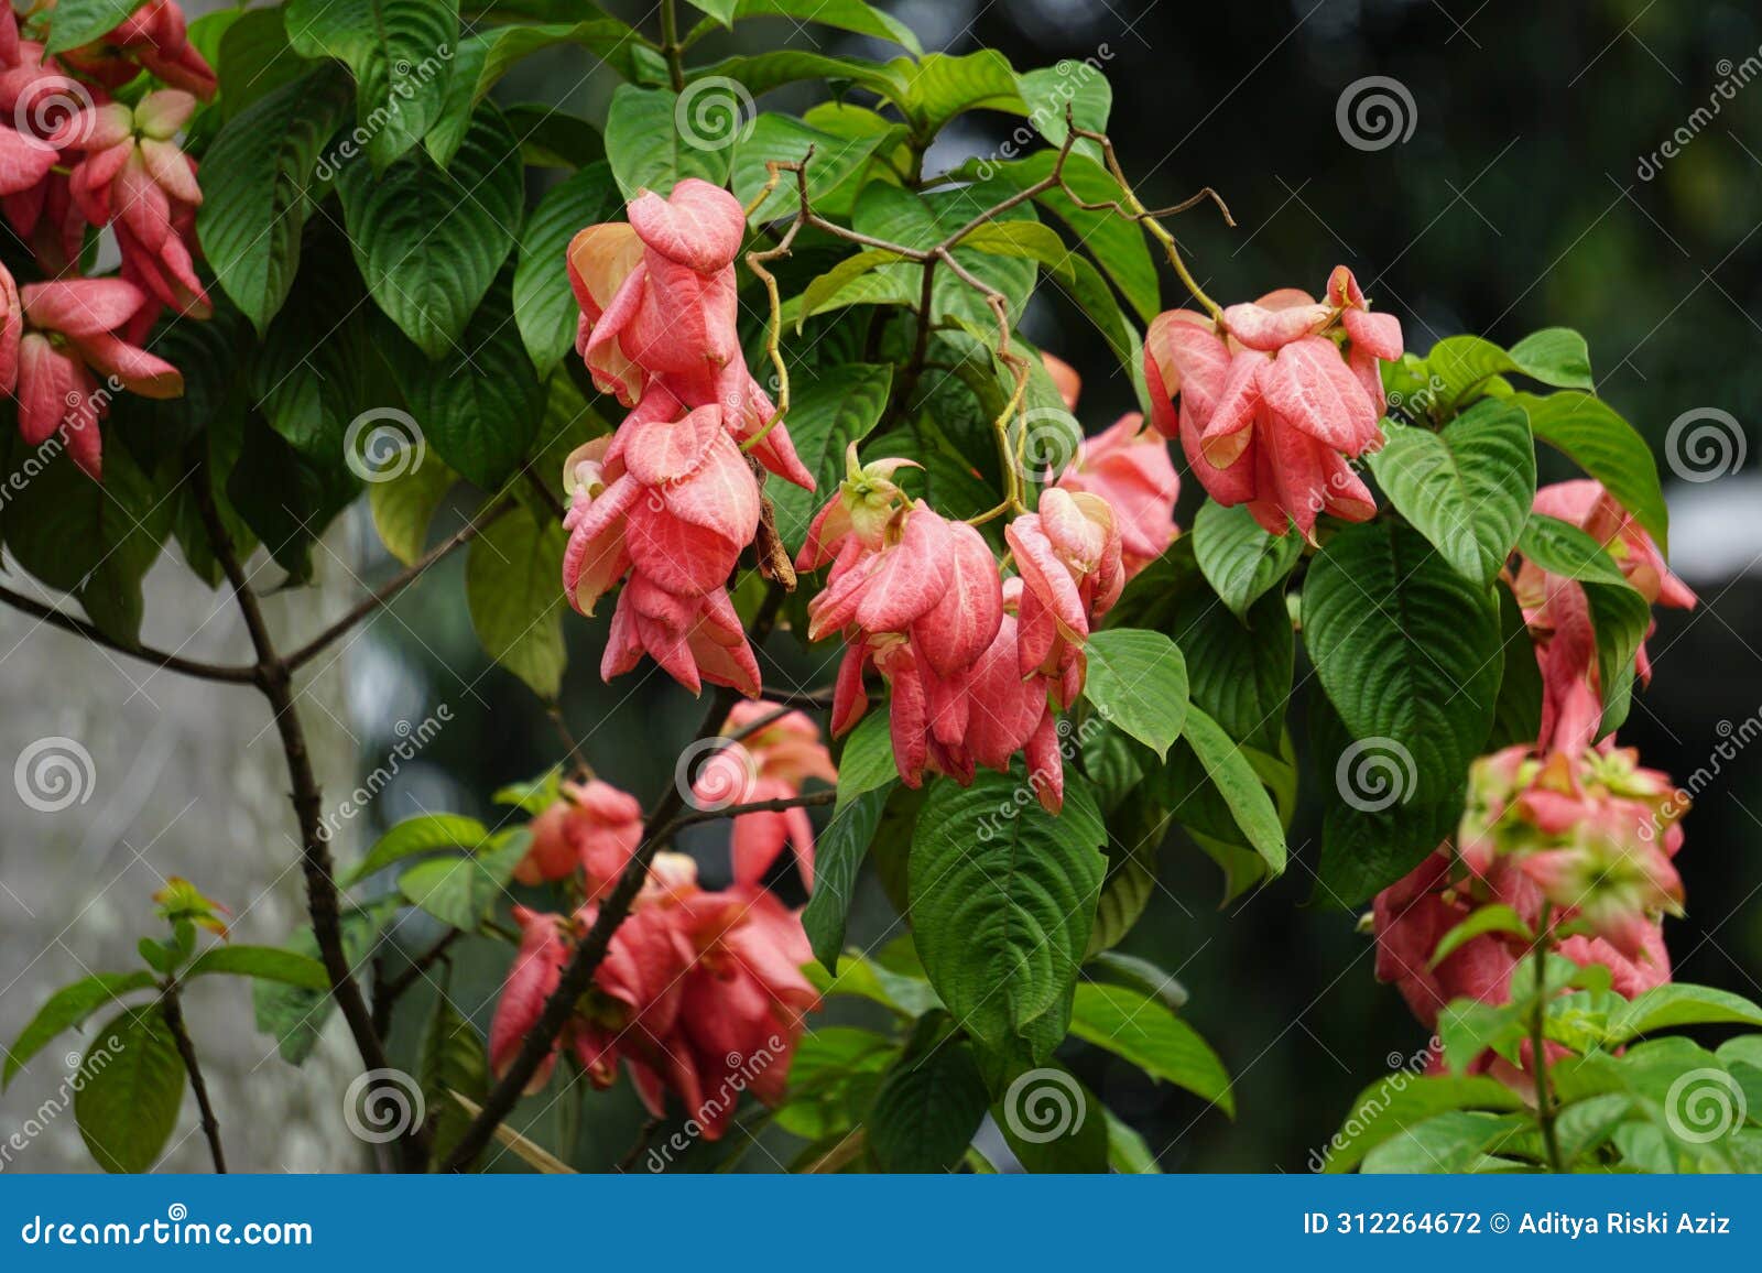
{"type": "MultiPolygon", "coordinates": [[[[645,5],[613,5],[654,30],[645,5]]],[[[1707,765],[1729,726],[1762,711],[1762,83],[1720,97],[1651,180],[1640,160],[1716,85],[1762,58],[1762,9],[1695,0],[1582,0],[1535,5],[1507,0],[909,0],[886,5],[927,49],[1001,49],[1020,67],[1098,58],[1114,85],[1110,132],[1149,205],[1202,185],[1228,199],[1237,227],[1209,210],[1175,231],[1214,296],[1247,300],[1270,287],[1320,291],[1348,263],[1376,303],[1403,319],[1408,347],[1471,331],[1512,344],[1540,326],[1577,326],[1589,339],[1600,393],[1655,446],[1683,413],[1714,407],[1746,428],[1746,462],[1711,483],[1672,480],[1674,557],[1702,596],[1693,614],[1660,612],[1651,640],[1656,677],[1623,742],[1679,781],[1707,765]],[[1390,76],[1411,95],[1413,132],[1376,152],[1343,141],[1336,106],[1364,76],[1390,76]]],[[[802,48],[892,56],[826,28],[752,23],[707,41],[728,48],[802,48]]],[[[1762,62],[1750,69],[1762,74],[1762,62]]],[[[615,88],[580,51],[530,60],[499,88],[506,100],[548,100],[599,120],[615,88]],[[585,78],[583,78],[585,76],[585,78]]],[[[786,90],[761,108],[800,108],[786,90]]],[[[994,153],[1013,123],[967,116],[944,134],[927,171],[994,153]]],[[[1179,303],[1165,282],[1165,303],[1179,303]]],[[[1096,330],[1052,289],[1041,289],[1029,335],[1085,376],[1082,418],[1094,432],[1129,406],[1129,388],[1096,330]]],[[[1552,458],[1552,457],[1549,457],[1552,458]]],[[[1556,465],[1545,476],[1568,476],[1556,465]]],[[[1198,490],[1182,495],[1182,524],[1198,490]]],[[[372,534],[361,536],[363,543],[372,534]]],[[[374,562],[389,573],[389,562],[374,562]]],[[[396,619],[381,619],[356,645],[351,698],[372,769],[402,719],[448,702],[455,725],[405,767],[381,797],[377,825],[428,809],[490,813],[499,785],[537,774],[560,749],[553,723],[507,674],[486,665],[460,596],[460,561],[411,589],[396,619]],[[416,640],[412,633],[421,633],[416,640]]],[[[673,781],[680,744],[703,707],[657,675],[613,686],[597,677],[603,622],[567,621],[571,666],[564,712],[597,772],[645,802],[673,781]]],[[[766,651],[774,670],[830,682],[788,633],[766,651]]],[[[1299,681],[1307,668],[1299,666],[1299,681]]],[[[782,677],[779,677],[781,681],[782,677]]],[[[1309,686],[1313,691],[1314,686],[1309,686]]],[[[1293,733],[1306,737],[1302,696],[1293,733]]],[[[1723,772],[1686,822],[1679,860],[1690,915],[1669,927],[1683,979],[1762,996],[1762,755],[1720,762],[1723,772]]],[[[1325,779],[1327,776],[1323,776],[1325,779]]],[[[1177,836],[1161,855],[1161,889],[1126,949],[1154,959],[1191,991],[1188,1017],[1237,1076],[1235,1123],[1196,1098],[1152,1086],[1085,1046],[1066,1060],[1163,1155],[1168,1171],[1306,1171],[1366,1084],[1392,1058],[1425,1044],[1390,987],[1371,977],[1369,940],[1355,915],[1309,904],[1316,855],[1314,776],[1292,832],[1295,860],[1269,889],[1219,908],[1221,876],[1177,836]]],[[[726,873],[722,836],[698,829],[708,883],[726,873]]],[[[851,938],[869,945],[890,931],[892,910],[872,880],[851,938]]],[[[793,880],[782,883],[786,896],[793,880]]],[[[426,945],[412,920],[411,949],[426,945]]],[[[506,947],[463,943],[451,993],[481,1005],[488,1024],[507,963],[506,947]]],[[[421,1012],[402,1017],[414,1054],[421,1012]]],[[[537,1104],[534,1102],[534,1109],[537,1104]]],[[[516,1123],[520,1116],[516,1116],[516,1123]]],[[[620,1084],[544,1114],[534,1135],[581,1167],[617,1164],[643,1118],[620,1084]]],[[[742,1165],[774,1169],[791,1146],[777,1132],[751,1150],[733,1132],[721,1148],[696,1146],[680,1165],[705,1167],[731,1148],[742,1165]]],[[[640,1169],[640,1167],[638,1167],[640,1169]]]]}

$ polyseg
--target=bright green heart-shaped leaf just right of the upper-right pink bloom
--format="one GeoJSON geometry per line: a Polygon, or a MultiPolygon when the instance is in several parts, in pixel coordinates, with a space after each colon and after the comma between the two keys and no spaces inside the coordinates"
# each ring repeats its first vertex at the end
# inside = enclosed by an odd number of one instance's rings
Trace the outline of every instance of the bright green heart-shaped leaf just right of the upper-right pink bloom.
{"type": "Polygon", "coordinates": [[[1522,407],[1485,400],[1438,434],[1392,427],[1371,473],[1445,561],[1487,585],[1505,570],[1535,501],[1529,420],[1522,407]]]}

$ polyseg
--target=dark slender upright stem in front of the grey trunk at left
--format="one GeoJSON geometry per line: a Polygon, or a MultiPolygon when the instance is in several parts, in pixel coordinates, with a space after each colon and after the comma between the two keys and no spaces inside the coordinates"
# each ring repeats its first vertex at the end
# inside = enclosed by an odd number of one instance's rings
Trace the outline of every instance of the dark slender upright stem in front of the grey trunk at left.
{"type": "MultiPolygon", "coordinates": [[[[300,822],[300,864],[307,880],[307,912],[312,915],[312,936],[317,940],[324,972],[329,975],[331,994],[342,1009],[344,1019],[349,1023],[349,1033],[361,1053],[361,1063],[368,1070],[389,1072],[391,1061],[386,1058],[384,1044],[374,1030],[374,1014],[366,1007],[361,986],[354,980],[354,970],[349,966],[349,956],[342,945],[335,864],[331,860],[324,820],[319,815],[322,800],[317,776],[312,770],[305,728],[294,707],[292,677],[287,663],[275,652],[270,624],[264,621],[257,594],[252,591],[250,580],[245,577],[245,568],[238,561],[233,536],[227,534],[226,524],[215,510],[206,474],[197,473],[194,488],[196,510],[208,529],[215,559],[233,585],[238,608],[245,615],[252,649],[257,651],[257,688],[270,700],[275,728],[282,739],[282,753],[287,756],[287,776],[292,783],[289,799],[294,804],[294,816],[300,822]]],[[[421,1169],[426,1160],[426,1127],[414,1128],[403,1141],[403,1165],[407,1171],[421,1169]]]]}

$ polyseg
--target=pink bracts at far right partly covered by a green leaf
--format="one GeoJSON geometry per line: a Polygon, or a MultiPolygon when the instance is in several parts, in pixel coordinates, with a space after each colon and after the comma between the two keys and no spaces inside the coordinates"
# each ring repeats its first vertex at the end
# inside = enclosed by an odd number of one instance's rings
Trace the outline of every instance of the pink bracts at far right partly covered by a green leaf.
{"type": "MultiPolygon", "coordinates": [[[[1649,603],[1674,610],[1695,607],[1695,594],[1670,573],[1653,538],[1602,483],[1581,480],[1542,487],[1535,511],[1570,522],[1602,543],[1649,603]]],[[[1542,665],[1540,742],[1544,748],[1568,751],[1584,748],[1596,737],[1603,716],[1596,631],[1584,585],[1521,561],[1512,592],[1524,610],[1536,644],[1536,661],[1542,665]]],[[[1633,666],[1642,684],[1651,681],[1644,642],[1633,656],[1633,666]]]]}

